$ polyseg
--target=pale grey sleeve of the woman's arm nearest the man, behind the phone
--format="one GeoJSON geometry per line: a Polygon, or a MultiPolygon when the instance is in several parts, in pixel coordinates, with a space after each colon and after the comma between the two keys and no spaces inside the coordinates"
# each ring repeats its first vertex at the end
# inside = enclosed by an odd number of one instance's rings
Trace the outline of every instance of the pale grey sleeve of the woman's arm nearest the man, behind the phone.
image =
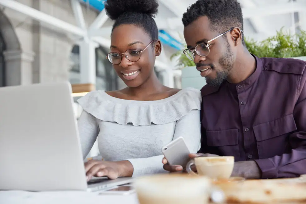
{"type": "MultiPolygon", "coordinates": [[[[183,137],[190,152],[196,153],[200,148],[200,111],[191,110],[187,115],[176,121],[173,140],[183,137]]],[[[134,167],[132,177],[147,174],[166,173],[163,169],[164,155],[148,158],[127,159],[134,167]]]]}

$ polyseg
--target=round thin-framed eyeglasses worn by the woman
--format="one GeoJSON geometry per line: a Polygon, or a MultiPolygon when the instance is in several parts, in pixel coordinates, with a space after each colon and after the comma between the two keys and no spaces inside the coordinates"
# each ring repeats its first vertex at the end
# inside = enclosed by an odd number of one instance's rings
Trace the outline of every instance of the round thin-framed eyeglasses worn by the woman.
{"type": "Polygon", "coordinates": [[[131,62],[137,62],[140,59],[141,53],[148,48],[153,42],[156,40],[153,40],[150,42],[150,44],[145,47],[143,50],[139,49],[128,49],[124,53],[118,53],[118,52],[110,52],[106,55],[106,59],[108,59],[112,64],[120,64],[122,61],[122,55],[126,57],[131,62]]]}

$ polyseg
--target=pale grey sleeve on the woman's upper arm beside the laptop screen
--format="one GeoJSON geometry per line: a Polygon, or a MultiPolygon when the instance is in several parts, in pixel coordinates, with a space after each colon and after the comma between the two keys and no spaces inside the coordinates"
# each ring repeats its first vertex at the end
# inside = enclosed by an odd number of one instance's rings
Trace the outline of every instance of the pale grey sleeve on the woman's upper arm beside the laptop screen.
{"type": "Polygon", "coordinates": [[[78,121],[79,137],[83,159],[88,155],[98,136],[98,125],[95,117],[83,111],[78,121]]]}

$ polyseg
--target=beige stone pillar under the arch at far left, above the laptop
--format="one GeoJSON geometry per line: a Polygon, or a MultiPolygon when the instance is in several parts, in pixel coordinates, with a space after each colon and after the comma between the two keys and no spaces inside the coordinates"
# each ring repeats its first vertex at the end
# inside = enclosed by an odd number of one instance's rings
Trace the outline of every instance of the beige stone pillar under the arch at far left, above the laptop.
{"type": "Polygon", "coordinates": [[[22,50],[5,50],[5,83],[6,86],[32,84],[32,62],[34,52],[22,50]]]}

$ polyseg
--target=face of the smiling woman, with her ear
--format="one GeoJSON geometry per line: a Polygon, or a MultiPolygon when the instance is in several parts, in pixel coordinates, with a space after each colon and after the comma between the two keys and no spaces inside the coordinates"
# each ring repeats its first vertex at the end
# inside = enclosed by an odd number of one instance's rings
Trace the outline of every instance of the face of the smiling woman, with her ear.
{"type": "MultiPolygon", "coordinates": [[[[135,50],[141,51],[151,42],[151,37],[142,28],[123,24],[116,27],[111,34],[111,52],[126,53],[129,59],[135,61],[139,54],[135,50]],[[126,50],[129,51],[126,52],[126,50]]],[[[157,40],[140,53],[138,61],[131,62],[122,54],[121,62],[117,65],[113,64],[113,67],[128,87],[138,87],[154,74],[155,57],[159,56],[160,52],[161,44],[157,40]],[[153,45],[155,45],[154,48],[153,45]]],[[[114,57],[119,58],[120,61],[120,56],[115,54],[114,57]]]]}

